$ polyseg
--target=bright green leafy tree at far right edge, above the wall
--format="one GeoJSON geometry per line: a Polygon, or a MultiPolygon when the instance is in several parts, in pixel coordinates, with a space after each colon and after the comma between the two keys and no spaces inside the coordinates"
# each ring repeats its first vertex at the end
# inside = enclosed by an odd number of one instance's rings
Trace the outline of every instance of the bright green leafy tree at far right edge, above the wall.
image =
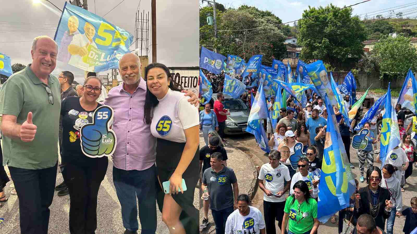
{"type": "Polygon", "coordinates": [[[383,36],[375,43],[372,54],[378,63],[381,79],[402,78],[411,67],[417,70],[417,48],[410,44],[411,38],[383,36]]]}

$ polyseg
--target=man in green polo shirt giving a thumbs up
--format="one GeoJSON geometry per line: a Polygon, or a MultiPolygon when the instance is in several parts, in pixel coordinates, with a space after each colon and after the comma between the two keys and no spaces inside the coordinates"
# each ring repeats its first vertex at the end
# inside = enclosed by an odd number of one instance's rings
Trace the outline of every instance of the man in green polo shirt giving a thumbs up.
{"type": "Polygon", "coordinates": [[[3,165],[19,198],[20,233],[47,234],[58,162],[60,83],[50,75],[58,46],[35,37],[32,63],[14,73],[0,91],[3,165]]]}

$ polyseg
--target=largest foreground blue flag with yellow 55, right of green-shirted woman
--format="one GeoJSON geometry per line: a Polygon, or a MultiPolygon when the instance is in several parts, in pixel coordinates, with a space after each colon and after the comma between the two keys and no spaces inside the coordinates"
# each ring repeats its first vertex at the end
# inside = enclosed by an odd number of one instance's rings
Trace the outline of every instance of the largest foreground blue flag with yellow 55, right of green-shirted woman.
{"type": "Polygon", "coordinates": [[[327,222],[337,211],[349,207],[349,197],[356,189],[352,170],[349,167],[349,160],[340,136],[339,124],[327,94],[324,98],[329,116],[327,118],[317,206],[317,218],[323,223],[327,222]]]}

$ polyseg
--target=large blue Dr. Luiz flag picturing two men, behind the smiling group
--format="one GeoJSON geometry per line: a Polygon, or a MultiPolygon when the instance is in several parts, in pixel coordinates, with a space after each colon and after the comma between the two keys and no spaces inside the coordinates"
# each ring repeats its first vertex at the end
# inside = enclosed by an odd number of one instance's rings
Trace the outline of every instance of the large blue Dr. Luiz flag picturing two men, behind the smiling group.
{"type": "Polygon", "coordinates": [[[67,4],[55,32],[57,60],[89,72],[119,68],[133,35],[81,7],[67,4]]]}

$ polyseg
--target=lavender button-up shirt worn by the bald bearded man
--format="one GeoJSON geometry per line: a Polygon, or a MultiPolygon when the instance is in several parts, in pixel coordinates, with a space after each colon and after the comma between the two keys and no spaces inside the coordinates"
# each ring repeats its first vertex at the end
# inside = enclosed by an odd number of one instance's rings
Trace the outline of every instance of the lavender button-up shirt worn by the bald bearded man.
{"type": "Polygon", "coordinates": [[[104,100],[114,110],[113,131],[117,145],[113,165],[122,170],[145,170],[155,164],[156,138],[150,124],[143,122],[146,81],[141,78],[131,95],[123,89],[124,82],[114,87],[104,100]]]}

